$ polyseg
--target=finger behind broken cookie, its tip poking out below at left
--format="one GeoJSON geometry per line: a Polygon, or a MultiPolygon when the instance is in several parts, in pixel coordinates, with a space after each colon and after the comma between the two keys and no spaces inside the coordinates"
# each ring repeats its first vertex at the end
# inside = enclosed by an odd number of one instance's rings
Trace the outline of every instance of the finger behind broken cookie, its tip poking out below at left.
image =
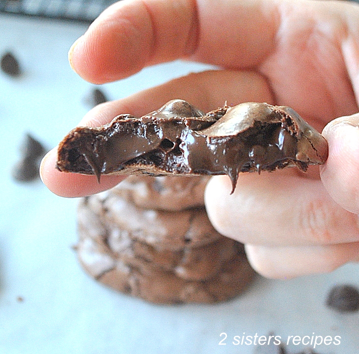
{"type": "MultiPolygon", "coordinates": [[[[99,126],[110,122],[116,115],[130,113],[141,116],[160,108],[173,99],[184,99],[203,111],[223,106],[223,97],[228,105],[240,102],[271,102],[266,81],[247,71],[205,71],[169,81],[161,86],[138,92],[126,99],[107,102],[90,110],[81,120],[81,126],[99,126]]],[[[51,150],[43,159],[40,169],[42,180],[55,194],[79,197],[94,194],[117,184],[123,177],[96,177],[68,174],[56,169],[57,151],[51,150]]]]}

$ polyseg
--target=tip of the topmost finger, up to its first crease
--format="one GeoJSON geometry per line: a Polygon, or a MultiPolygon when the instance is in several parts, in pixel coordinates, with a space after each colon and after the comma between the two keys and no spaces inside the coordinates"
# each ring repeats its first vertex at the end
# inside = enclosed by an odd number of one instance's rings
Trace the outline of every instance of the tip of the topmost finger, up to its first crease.
{"type": "Polygon", "coordinates": [[[106,8],[68,52],[71,68],[94,84],[140,71],[150,56],[151,21],[141,1],[106,8]]]}

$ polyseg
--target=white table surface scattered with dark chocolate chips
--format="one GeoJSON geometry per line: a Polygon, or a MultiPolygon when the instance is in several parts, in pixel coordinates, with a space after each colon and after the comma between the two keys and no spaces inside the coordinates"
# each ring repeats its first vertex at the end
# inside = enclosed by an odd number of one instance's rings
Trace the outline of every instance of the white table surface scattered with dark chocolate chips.
{"type": "MultiPolygon", "coordinates": [[[[325,306],[336,283],[359,286],[359,265],[290,281],[259,278],[241,297],[215,306],[158,306],[118,294],[80,268],[76,244],[77,200],[53,195],[41,181],[14,182],[10,171],[29,131],[55,146],[88,110],[94,86],[73,73],[67,50],[85,25],[0,16],[0,53],[11,50],[25,71],[14,79],[0,72],[0,354],[234,354],[254,345],[233,345],[235,335],[340,336],[320,354],[359,352],[359,313],[325,306]],[[19,297],[23,301],[19,301],[19,297]],[[226,345],[219,345],[221,333],[226,345]]],[[[112,98],[203,67],[174,62],[103,85],[112,98]]],[[[291,353],[304,346],[292,345],[291,353]]]]}

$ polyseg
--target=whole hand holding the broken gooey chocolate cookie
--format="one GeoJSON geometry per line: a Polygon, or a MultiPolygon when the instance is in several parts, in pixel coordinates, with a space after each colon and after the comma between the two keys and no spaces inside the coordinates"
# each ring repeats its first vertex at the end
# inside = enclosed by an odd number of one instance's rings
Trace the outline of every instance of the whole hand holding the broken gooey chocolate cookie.
{"type": "MultiPolygon", "coordinates": [[[[118,80],[177,58],[221,70],[190,74],[91,110],[82,125],[119,113],[136,116],[181,98],[209,111],[241,102],[294,108],[323,131],[321,170],[243,174],[234,194],[227,176],[206,190],[212,223],[246,244],[267,277],[330,271],[359,258],[359,6],[316,0],[123,0],[110,6],[69,52],[72,68],[93,83],[118,80]],[[343,117],[347,116],[347,117],[343,117]],[[336,120],[333,120],[336,117],[336,120]]],[[[67,197],[96,193],[123,177],[60,173],[51,151],[45,184],[67,197]]]]}

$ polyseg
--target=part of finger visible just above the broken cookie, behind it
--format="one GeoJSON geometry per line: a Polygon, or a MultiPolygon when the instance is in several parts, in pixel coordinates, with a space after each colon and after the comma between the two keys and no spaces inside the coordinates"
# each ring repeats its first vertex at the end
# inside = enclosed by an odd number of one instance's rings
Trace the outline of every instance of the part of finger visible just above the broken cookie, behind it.
{"type": "Polygon", "coordinates": [[[162,85],[137,92],[125,99],[106,102],[90,110],[79,125],[99,126],[120,113],[141,116],[173,99],[182,99],[208,112],[227,102],[234,106],[242,102],[272,103],[267,82],[253,71],[210,70],[175,78],[162,85]]]}

